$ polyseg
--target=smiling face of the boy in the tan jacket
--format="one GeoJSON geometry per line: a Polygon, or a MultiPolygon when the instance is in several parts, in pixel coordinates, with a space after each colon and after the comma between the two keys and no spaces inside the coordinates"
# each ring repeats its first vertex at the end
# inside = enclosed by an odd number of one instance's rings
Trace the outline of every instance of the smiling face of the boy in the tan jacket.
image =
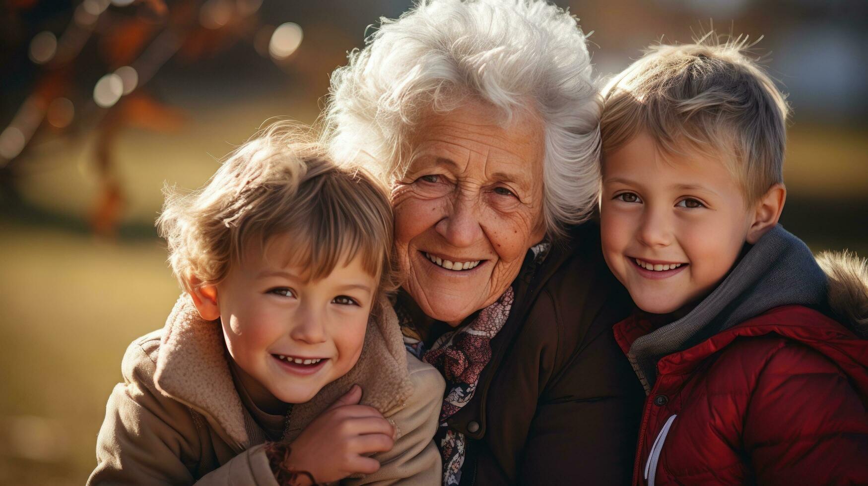
{"type": "Polygon", "coordinates": [[[377,281],[360,257],[308,280],[303,268],[283,263],[293,251],[288,238],[269,243],[217,286],[220,320],[229,354],[262,387],[251,395],[268,391],[300,404],[358,361],[377,281]]]}

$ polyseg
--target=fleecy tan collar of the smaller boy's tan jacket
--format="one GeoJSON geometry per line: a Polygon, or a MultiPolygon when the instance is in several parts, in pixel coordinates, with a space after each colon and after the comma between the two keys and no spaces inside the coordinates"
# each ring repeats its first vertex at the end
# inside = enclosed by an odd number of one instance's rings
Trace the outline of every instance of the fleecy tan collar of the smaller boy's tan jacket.
{"type": "MultiPolygon", "coordinates": [[[[285,439],[297,437],[352,384],[362,387],[361,403],[379,410],[385,417],[404,406],[413,392],[404,341],[391,305],[384,301],[379,307],[379,315],[372,314],[368,321],[356,365],[343,377],[326,384],[310,401],[293,404],[285,439]]],[[[166,319],[155,384],[163,395],[200,412],[216,430],[225,431],[231,439],[227,443],[240,449],[249,446],[247,410],[235,390],[220,320],[202,319],[186,293],[166,319]]]]}

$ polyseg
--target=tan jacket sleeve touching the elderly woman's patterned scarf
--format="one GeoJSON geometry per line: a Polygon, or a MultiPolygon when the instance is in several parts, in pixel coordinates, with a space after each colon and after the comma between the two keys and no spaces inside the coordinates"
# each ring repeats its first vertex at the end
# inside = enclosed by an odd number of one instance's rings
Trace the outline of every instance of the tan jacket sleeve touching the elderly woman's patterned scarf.
{"type": "Polygon", "coordinates": [[[442,482],[440,451],[434,444],[437,420],[446,384],[433,366],[407,354],[407,368],[413,383],[413,394],[404,408],[388,417],[400,434],[388,452],[373,457],[380,469],[358,479],[345,479],[341,484],[431,484],[442,482]]]}

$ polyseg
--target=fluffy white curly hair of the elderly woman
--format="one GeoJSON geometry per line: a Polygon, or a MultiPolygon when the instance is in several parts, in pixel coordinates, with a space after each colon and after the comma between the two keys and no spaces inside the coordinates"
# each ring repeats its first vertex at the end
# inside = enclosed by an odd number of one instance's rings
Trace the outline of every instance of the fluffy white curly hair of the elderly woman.
{"type": "Polygon", "coordinates": [[[542,119],[543,216],[550,236],[589,219],[599,191],[600,99],[575,16],[540,0],[422,0],[381,18],[332,74],[324,141],[336,160],[393,183],[421,117],[468,98],[542,119]]]}

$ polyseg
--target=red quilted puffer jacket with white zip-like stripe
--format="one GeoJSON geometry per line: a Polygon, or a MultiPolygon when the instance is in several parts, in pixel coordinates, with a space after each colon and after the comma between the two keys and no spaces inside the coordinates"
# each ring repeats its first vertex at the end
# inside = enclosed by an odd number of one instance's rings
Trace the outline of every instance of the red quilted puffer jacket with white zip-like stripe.
{"type": "MultiPolygon", "coordinates": [[[[627,353],[651,325],[615,325],[627,353]]],[[[662,358],[633,484],[868,484],[868,341],[786,305],[662,358]]]]}

